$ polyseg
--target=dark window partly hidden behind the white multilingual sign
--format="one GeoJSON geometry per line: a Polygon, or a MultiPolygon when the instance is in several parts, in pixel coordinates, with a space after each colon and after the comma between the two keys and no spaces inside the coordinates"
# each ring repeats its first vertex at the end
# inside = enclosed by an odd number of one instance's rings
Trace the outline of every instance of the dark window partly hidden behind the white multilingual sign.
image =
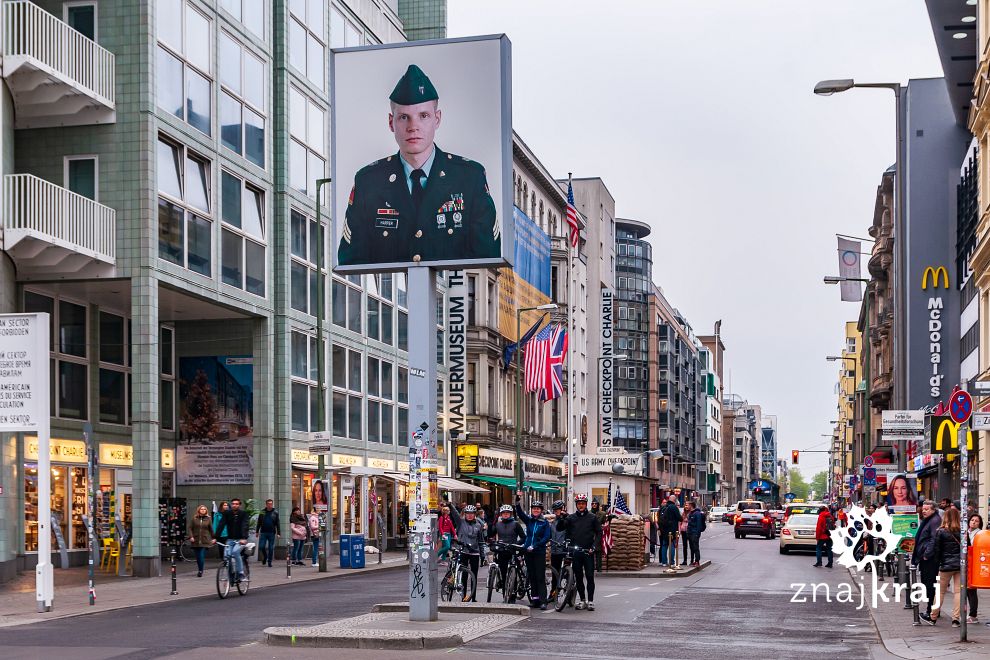
{"type": "Polygon", "coordinates": [[[85,305],[59,300],[33,291],[24,292],[24,311],[49,316],[52,415],[88,419],[89,360],[85,305]]]}

